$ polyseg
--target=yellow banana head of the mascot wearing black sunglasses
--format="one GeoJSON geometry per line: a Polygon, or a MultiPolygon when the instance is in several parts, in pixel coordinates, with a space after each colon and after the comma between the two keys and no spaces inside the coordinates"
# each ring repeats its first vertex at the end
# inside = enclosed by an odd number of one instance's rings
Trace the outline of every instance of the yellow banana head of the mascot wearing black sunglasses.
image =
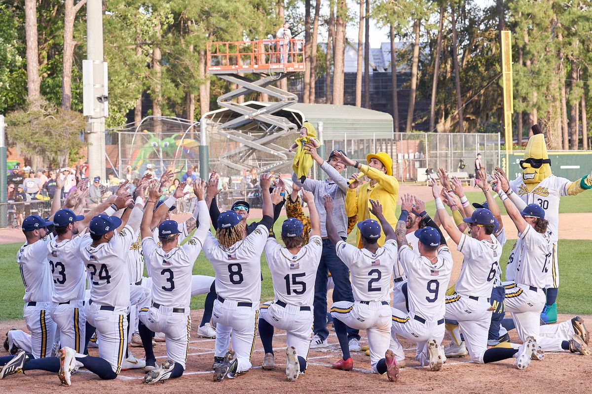
{"type": "Polygon", "coordinates": [[[545,135],[538,124],[532,127],[533,136],[528,140],[524,157],[520,160],[524,183],[539,183],[552,174],[551,159],[547,154],[545,135]]]}

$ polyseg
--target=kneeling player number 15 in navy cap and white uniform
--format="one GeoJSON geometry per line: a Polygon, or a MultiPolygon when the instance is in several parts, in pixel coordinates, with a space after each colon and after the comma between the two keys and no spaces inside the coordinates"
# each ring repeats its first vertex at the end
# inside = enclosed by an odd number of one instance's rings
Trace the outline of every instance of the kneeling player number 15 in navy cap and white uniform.
{"type": "Polygon", "coordinates": [[[286,247],[279,245],[275,238],[267,238],[265,257],[274,282],[275,300],[263,304],[259,312],[259,335],[265,349],[263,369],[275,367],[274,327],[286,330],[286,377],[290,382],[306,370],[313,333],[314,281],[323,252],[321,222],[313,193],[303,191],[303,199],[310,212],[309,241],[303,246],[304,225],[295,218],[286,219],[282,224],[282,241],[286,247]]]}

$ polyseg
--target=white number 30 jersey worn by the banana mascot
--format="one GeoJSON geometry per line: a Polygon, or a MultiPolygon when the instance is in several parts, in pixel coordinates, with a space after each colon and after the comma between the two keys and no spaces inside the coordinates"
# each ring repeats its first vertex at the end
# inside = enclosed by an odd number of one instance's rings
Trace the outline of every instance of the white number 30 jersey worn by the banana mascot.
{"type": "Polygon", "coordinates": [[[567,187],[571,180],[551,175],[543,179],[536,188],[529,192],[522,180],[522,175],[510,182],[510,188],[526,204],[538,204],[545,209],[545,219],[549,221],[551,242],[557,243],[559,230],[559,198],[567,196],[567,187]]]}

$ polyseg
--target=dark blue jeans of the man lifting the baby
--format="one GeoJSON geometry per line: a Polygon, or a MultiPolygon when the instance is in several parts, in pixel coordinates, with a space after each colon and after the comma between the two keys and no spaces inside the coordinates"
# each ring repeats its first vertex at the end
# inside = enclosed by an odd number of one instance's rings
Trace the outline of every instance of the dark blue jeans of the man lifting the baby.
{"type": "MultiPolygon", "coordinates": [[[[343,238],[345,241],[346,238],[343,238]]],[[[349,269],[343,261],[337,257],[335,246],[330,240],[323,240],[323,253],[318,264],[317,279],[314,282],[313,302],[313,331],[315,335],[326,340],[329,336],[327,330],[327,272],[331,272],[335,288],[333,289],[333,302],[353,302],[352,283],[349,282],[349,269]]],[[[359,330],[348,327],[348,339],[360,339],[359,330]]]]}

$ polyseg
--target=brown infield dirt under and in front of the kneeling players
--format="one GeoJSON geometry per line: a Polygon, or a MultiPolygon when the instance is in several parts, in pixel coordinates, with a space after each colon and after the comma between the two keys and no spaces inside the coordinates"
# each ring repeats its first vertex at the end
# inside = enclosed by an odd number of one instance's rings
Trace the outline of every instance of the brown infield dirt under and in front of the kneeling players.
{"type": "MultiPolygon", "coordinates": [[[[198,322],[201,311],[193,311],[192,318],[198,322]]],[[[559,321],[571,318],[559,315],[559,321]]],[[[592,322],[592,316],[585,316],[592,322]]],[[[9,328],[24,328],[22,321],[0,322],[0,332],[9,328]]],[[[196,328],[192,328],[195,332],[196,328]]],[[[361,331],[362,345],[367,344],[365,332],[361,331]]],[[[511,332],[517,341],[515,331],[511,332]]],[[[260,365],[263,361],[263,349],[259,338],[256,339],[255,353],[253,353],[253,369],[244,376],[236,379],[226,379],[223,382],[213,382],[211,366],[214,356],[214,340],[192,338],[189,343],[189,356],[184,376],[170,379],[164,385],[141,385],[144,373],[141,370],[128,370],[121,373],[115,381],[99,380],[94,374],[86,370],[72,376],[72,386],[60,388],[57,374],[43,371],[28,371],[26,375],[8,376],[2,380],[0,387],[4,393],[45,393],[55,389],[67,390],[72,394],[89,392],[244,392],[260,393],[485,393],[485,392],[514,392],[552,393],[565,392],[585,393],[592,390],[589,379],[592,369],[592,357],[571,353],[546,353],[544,361],[532,361],[526,370],[517,370],[512,360],[500,361],[487,365],[469,362],[468,357],[449,359],[440,372],[430,372],[419,367],[413,360],[415,349],[410,341],[403,340],[401,344],[406,350],[407,367],[401,370],[400,382],[388,382],[386,376],[371,373],[369,357],[362,352],[352,353],[355,370],[345,372],[331,369],[331,364],[339,360],[340,351],[334,332],[329,335],[330,346],[320,350],[311,349],[308,354],[308,369],[296,382],[285,379],[285,332],[276,330],[274,350],[276,355],[276,369],[263,371],[260,365]]],[[[448,343],[445,338],[444,343],[448,343]]],[[[136,356],[143,351],[131,348],[136,356]]],[[[6,353],[2,350],[2,355],[6,353]]],[[[91,349],[91,355],[96,355],[96,349],[91,349]]],[[[159,362],[165,360],[165,345],[158,343],[155,354],[159,362]]]]}

